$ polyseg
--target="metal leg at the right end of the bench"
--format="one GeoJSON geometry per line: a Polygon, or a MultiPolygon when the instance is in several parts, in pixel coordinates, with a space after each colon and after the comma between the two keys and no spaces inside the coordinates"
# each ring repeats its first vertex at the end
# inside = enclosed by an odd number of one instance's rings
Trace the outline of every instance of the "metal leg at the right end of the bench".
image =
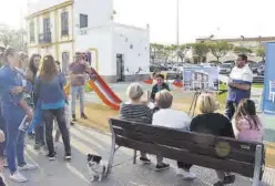
{"type": "Polygon", "coordinates": [[[259,174],[262,170],[262,156],[263,156],[263,146],[257,145],[255,152],[255,167],[254,167],[254,175],[253,175],[253,184],[252,186],[259,186],[259,174]]]}

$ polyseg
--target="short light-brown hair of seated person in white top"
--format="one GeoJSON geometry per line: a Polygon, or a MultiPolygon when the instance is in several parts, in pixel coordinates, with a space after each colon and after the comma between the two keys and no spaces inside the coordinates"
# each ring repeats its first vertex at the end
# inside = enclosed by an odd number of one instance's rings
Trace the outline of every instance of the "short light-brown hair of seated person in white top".
{"type": "Polygon", "coordinates": [[[170,108],[173,103],[173,95],[167,90],[162,90],[156,93],[155,102],[160,108],[170,108]]]}

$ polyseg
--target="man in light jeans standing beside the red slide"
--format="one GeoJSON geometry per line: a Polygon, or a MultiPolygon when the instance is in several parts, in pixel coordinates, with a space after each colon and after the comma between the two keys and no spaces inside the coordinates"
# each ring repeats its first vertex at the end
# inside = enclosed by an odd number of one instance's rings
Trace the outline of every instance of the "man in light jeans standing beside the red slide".
{"type": "Polygon", "coordinates": [[[85,78],[86,72],[92,73],[89,64],[86,61],[82,59],[81,52],[75,53],[75,61],[70,64],[70,78],[71,78],[71,96],[72,96],[72,105],[71,105],[71,112],[72,112],[72,121],[77,121],[75,116],[75,101],[77,96],[80,97],[80,113],[81,117],[86,120],[86,115],[84,113],[84,84],[85,84],[85,78]]]}

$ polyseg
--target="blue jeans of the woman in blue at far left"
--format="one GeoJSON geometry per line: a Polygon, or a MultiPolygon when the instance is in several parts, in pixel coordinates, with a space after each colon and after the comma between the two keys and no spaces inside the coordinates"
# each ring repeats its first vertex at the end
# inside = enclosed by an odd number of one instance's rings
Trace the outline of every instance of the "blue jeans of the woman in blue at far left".
{"type": "Polygon", "coordinates": [[[7,126],[7,157],[10,173],[17,170],[16,158],[18,165],[24,165],[24,132],[18,127],[23,120],[26,113],[20,107],[6,106],[2,110],[3,118],[7,126]]]}

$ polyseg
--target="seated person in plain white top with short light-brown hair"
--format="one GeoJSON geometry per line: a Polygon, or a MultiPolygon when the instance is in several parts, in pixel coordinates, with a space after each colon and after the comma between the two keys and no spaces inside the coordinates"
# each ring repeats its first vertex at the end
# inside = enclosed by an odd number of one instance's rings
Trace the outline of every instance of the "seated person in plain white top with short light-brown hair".
{"type": "MultiPolygon", "coordinates": [[[[160,111],[153,115],[153,125],[165,126],[182,131],[190,131],[190,116],[182,112],[172,110],[173,95],[167,90],[162,90],[155,95],[155,104],[159,106],[160,111]]],[[[156,156],[156,170],[162,170],[169,168],[169,164],[163,163],[163,157],[156,156]]],[[[177,162],[177,174],[183,175],[185,179],[194,179],[195,174],[190,173],[192,165],[177,162]]]]}

